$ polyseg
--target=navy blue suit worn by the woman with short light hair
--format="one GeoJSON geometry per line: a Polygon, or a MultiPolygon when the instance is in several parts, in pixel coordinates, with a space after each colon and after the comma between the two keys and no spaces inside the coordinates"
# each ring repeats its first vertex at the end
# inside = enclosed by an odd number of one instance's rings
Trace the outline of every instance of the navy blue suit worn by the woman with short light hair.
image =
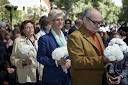
{"type": "Polygon", "coordinates": [[[57,47],[59,45],[51,32],[39,38],[37,60],[44,65],[43,85],[68,85],[68,74],[63,72],[61,66],[56,66],[51,56],[57,47]]]}

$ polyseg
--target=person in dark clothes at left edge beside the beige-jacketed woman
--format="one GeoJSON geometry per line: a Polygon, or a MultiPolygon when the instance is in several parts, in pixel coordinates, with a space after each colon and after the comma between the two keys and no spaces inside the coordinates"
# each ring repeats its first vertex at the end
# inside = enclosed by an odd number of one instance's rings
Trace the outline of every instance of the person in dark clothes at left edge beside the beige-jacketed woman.
{"type": "Polygon", "coordinates": [[[0,29],[0,85],[16,85],[15,67],[10,63],[10,53],[4,42],[6,32],[0,29]]]}

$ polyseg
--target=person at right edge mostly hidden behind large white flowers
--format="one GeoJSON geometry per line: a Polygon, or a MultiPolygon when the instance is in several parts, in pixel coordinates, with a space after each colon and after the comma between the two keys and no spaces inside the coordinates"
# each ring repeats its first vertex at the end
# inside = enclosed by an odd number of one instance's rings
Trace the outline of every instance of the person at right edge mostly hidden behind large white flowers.
{"type": "Polygon", "coordinates": [[[128,85],[128,46],[123,36],[116,33],[104,50],[108,62],[105,65],[108,84],[128,85]]]}

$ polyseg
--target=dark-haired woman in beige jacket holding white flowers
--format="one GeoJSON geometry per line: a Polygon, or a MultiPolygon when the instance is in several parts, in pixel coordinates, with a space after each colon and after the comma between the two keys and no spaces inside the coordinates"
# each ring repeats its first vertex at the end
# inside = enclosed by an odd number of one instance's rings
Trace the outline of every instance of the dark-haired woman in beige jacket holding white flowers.
{"type": "Polygon", "coordinates": [[[15,39],[11,62],[17,68],[18,82],[20,85],[35,85],[36,83],[36,37],[35,24],[25,20],[20,27],[21,36],[15,39]]]}

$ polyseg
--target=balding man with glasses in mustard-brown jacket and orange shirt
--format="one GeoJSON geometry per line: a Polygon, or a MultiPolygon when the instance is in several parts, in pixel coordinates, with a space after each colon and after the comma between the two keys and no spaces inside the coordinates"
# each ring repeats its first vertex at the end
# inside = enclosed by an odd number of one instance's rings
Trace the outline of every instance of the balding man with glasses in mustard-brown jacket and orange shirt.
{"type": "Polygon", "coordinates": [[[72,85],[102,85],[104,45],[97,32],[103,18],[94,8],[87,9],[81,18],[81,27],[68,39],[72,85]]]}

